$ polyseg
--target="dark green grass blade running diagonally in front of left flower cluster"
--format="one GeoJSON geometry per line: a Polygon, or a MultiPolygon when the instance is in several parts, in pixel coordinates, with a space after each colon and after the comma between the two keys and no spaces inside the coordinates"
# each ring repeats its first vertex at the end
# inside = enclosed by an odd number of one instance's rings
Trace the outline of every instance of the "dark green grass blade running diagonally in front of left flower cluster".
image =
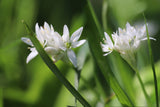
{"type": "Polygon", "coordinates": [[[42,48],[41,44],[37,40],[35,34],[33,31],[29,28],[29,26],[22,21],[23,24],[26,27],[27,32],[30,35],[30,39],[34,46],[36,47],[36,50],[38,51],[39,55],[43,59],[43,61],[46,63],[46,65],[50,68],[50,70],[56,75],[56,77],[64,84],[64,86],[72,93],[72,95],[77,98],[77,100],[84,105],[85,107],[91,107],[90,104],[80,95],[80,93],[69,83],[69,81],[63,76],[63,74],[58,70],[54,62],[51,60],[51,58],[47,55],[47,53],[42,48]]]}

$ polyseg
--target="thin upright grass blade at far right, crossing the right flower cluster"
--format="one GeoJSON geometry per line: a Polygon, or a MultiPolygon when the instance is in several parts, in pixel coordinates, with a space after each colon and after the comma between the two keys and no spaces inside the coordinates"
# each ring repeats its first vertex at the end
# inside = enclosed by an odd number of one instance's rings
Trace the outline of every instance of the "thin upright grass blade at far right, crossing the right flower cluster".
{"type": "Polygon", "coordinates": [[[146,32],[147,32],[149,56],[150,56],[150,61],[151,61],[151,66],[152,66],[152,71],[153,71],[153,77],[154,77],[156,107],[159,107],[157,77],[156,77],[156,71],[155,71],[155,66],[154,66],[154,61],[153,61],[153,54],[152,54],[151,42],[150,42],[150,39],[149,39],[149,33],[148,33],[148,27],[147,27],[146,18],[145,18],[145,15],[144,15],[144,14],[143,14],[143,16],[144,16],[144,20],[145,20],[145,24],[146,24],[146,32]]]}

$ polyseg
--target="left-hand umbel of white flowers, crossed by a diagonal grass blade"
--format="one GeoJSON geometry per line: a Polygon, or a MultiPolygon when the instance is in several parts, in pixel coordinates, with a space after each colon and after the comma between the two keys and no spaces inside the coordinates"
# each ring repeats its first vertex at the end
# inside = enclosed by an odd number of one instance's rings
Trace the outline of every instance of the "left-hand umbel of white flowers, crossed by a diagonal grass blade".
{"type": "MultiPolygon", "coordinates": [[[[54,62],[58,60],[66,60],[66,56],[74,65],[77,67],[77,59],[72,48],[81,46],[86,40],[79,40],[83,27],[76,30],[71,37],[69,36],[69,29],[67,25],[64,25],[63,35],[61,36],[58,32],[54,31],[53,26],[49,26],[47,22],[44,22],[44,27],[35,26],[36,37],[43,46],[44,50],[52,56],[54,62]]],[[[26,63],[35,58],[38,55],[36,48],[29,38],[22,37],[21,40],[30,45],[31,53],[28,55],[26,63]]]]}

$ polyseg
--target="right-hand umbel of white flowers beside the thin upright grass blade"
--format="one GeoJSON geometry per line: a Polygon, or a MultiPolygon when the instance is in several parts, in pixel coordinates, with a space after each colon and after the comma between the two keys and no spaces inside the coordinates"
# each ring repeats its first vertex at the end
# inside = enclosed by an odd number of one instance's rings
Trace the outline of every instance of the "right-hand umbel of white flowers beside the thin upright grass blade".
{"type": "MultiPolygon", "coordinates": [[[[145,25],[134,28],[128,22],[126,24],[126,29],[118,28],[118,31],[111,35],[113,42],[106,32],[104,35],[104,44],[101,43],[102,51],[105,52],[104,56],[115,50],[119,52],[125,60],[130,60],[130,63],[135,63],[134,53],[140,45],[140,42],[147,40],[145,25]]],[[[150,39],[155,40],[152,37],[150,37],[150,39]]]]}

